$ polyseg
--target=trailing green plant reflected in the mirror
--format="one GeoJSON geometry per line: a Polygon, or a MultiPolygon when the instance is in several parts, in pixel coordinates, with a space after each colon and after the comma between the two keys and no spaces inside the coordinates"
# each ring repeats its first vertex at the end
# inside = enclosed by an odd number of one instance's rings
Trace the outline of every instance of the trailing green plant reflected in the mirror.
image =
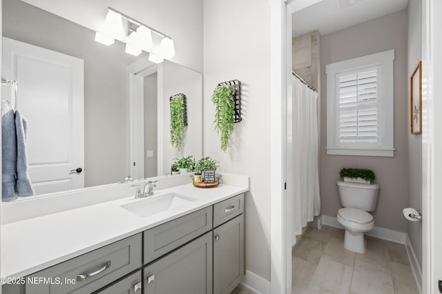
{"type": "Polygon", "coordinates": [[[171,143],[178,151],[182,148],[184,134],[184,97],[180,94],[171,97],[171,143]]]}

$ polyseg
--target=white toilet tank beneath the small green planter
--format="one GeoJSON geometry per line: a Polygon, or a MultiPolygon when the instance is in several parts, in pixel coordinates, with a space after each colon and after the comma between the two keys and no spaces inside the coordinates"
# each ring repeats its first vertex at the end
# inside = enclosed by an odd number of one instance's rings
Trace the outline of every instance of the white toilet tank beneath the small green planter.
{"type": "Polygon", "coordinates": [[[359,184],[338,180],[339,201],[343,207],[374,211],[378,201],[378,184],[359,184]]]}

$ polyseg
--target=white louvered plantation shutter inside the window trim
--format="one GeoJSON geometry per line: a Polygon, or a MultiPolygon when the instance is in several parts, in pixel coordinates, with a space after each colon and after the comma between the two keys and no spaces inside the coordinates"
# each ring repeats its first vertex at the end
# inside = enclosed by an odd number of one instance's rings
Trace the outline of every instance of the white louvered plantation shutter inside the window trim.
{"type": "Polygon", "coordinates": [[[336,75],[336,145],[378,145],[381,67],[336,75]]]}

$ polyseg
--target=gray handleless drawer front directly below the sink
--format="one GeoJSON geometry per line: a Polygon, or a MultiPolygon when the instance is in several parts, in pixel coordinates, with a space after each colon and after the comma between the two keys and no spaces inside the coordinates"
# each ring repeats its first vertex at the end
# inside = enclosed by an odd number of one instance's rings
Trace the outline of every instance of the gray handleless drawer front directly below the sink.
{"type": "Polygon", "coordinates": [[[176,220],[144,231],[144,264],[212,229],[212,207],[206,207],[176,220]]]}

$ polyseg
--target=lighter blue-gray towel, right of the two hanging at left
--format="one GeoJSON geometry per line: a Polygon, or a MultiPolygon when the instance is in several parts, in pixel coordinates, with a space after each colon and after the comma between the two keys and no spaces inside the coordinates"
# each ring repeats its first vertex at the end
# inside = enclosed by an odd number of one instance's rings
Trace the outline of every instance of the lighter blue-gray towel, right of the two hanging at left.
{"type": "Polygon", "coordinates": [[[28,151],[26,140],[28,140],[28,121],[21,116],[17,109],[15,111],[15,132],[17,133],[17,184],[18,196],[32,196],[35,194],[28,176],[28,151]]]}

